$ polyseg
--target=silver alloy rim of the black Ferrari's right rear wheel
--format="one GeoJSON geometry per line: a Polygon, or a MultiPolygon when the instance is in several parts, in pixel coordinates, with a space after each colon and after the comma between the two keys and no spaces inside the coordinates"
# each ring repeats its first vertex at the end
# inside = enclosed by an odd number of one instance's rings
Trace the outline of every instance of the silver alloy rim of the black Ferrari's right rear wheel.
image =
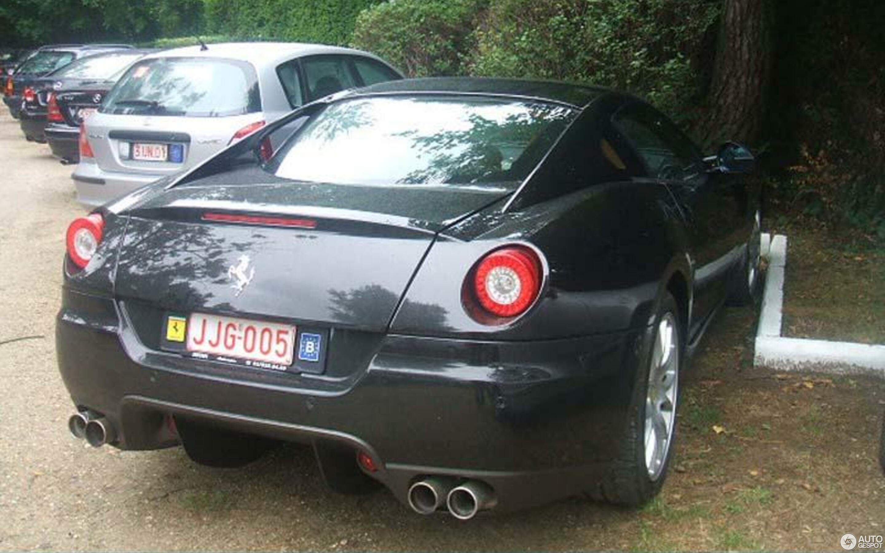
{"type": "Polygon", "coordinates": [[[673,441],[679,392],[679,343],[676,318],[667,312],[660,319],[655,334],[645,398],[643,443],[645,466],[652,481],[658,480],[664,472],[673,441]]]}

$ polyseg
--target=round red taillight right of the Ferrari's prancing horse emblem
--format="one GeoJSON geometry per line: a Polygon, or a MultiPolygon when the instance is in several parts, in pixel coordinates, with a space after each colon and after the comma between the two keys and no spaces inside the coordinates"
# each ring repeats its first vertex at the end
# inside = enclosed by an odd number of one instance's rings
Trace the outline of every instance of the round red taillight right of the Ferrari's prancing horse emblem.
{"type": "Polygon", "coordinates": [[[508,246],[483,257],[473,275],[473,291],[486,311],[497,317],[525,312],[541,292],[541,261],[535,250],[508,246]]]}

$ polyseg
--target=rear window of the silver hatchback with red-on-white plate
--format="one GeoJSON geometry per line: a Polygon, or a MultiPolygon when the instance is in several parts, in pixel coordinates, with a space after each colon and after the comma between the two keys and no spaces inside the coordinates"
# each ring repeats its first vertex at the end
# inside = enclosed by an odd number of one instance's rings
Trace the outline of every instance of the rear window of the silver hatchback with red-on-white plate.
{"type": "Polygon", "coordinates": [[[227,117],[261,111],[252,65],[213,58],[136,62],[117,82],[105,113],[227,117]]]}

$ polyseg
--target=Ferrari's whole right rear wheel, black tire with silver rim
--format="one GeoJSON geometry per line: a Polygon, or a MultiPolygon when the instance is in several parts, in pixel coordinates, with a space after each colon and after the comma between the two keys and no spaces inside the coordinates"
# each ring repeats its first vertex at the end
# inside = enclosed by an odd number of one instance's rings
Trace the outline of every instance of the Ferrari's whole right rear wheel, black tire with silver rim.
{"type": "Polygon", "coordinates": [[[589,490],[597,501],[641,505],[664,485],[679,405],[683,327],[679,312],[676,300],[667,293],[658,307],[649,351],[636,370],[619,457],[605,479],[589,490]]]}

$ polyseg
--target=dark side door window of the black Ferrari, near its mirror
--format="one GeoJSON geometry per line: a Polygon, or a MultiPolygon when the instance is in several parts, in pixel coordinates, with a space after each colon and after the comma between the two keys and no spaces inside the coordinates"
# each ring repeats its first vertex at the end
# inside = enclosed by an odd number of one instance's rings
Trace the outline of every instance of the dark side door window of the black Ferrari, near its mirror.
{"type": "Polygon", "coordinates": [[[702,173],[695,146],[654,111],[643,106],[627,107],[614,116],[613,122],[642,157],[650,177],[695,180],[702,173]]]}

